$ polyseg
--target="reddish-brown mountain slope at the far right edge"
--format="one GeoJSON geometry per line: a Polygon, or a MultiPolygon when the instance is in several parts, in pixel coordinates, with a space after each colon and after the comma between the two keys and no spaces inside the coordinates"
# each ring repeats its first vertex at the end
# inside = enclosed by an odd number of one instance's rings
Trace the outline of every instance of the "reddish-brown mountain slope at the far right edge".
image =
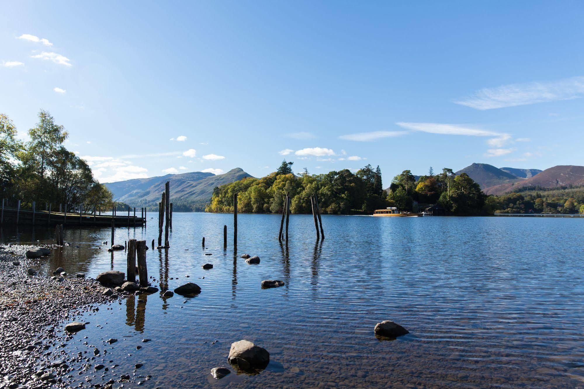
{"type": "Polygon", "coordinates": [[[487,187],[484,192],[486,194],[503,194],[522,187],[553,189],[562,186],[584,186],[584,166],[554,166],[528,179],[487,187]]]}

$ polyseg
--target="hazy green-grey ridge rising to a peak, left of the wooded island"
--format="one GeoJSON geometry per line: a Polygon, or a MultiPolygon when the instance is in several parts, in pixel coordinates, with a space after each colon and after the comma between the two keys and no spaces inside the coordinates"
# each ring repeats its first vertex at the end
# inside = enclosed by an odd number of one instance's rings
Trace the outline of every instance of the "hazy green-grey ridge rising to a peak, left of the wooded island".
{"type": "Polygon", "coordinates": [[[126,181],[106,183],[117,202],[133,206],[148,206],[160,201],[164,184],[171,183],[171,202],[176,210],[200,209],[213,196],[216,186],[251,177],[241,168],[231,169],[227,173],[214,175],[205,172],[167,174],[165,176],[138,178],[126,181]],[[193,206],[194,204],[194,206],[193,206]],[[179,206],[179,207],[177,207],[179,206]],[[195,207],[196,206],[196,207],[195,207]]]}

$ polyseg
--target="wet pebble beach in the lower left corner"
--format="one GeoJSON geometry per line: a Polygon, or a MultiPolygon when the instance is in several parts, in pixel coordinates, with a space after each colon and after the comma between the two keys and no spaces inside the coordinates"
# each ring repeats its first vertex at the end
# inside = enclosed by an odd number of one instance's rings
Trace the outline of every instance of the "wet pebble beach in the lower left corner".
{"type": "Polygon", "coordinates": [[[104,294],[107,288],[96,280],[68,275],[67,269],[56,275],[44,273],[39,269],[46,257],[27,258],[26,252],[34,249],[39,246],[0,246],[0,389],[71,387],[73,383],[113,388],[149,380],[150,376],[125,371],[112,374],[117,380],[100,379],[99,370],[113,370],[116,364],[102,362],[100,350],[87,342],[84,352],[65,352],[67,342],[83,337],[82,331],[65,331],[65,325],[86,312],[98,311],[99,305],[116,303],[126,293],[104,294]],[[84,376],[82,383],[79,376],[84,376]]]}

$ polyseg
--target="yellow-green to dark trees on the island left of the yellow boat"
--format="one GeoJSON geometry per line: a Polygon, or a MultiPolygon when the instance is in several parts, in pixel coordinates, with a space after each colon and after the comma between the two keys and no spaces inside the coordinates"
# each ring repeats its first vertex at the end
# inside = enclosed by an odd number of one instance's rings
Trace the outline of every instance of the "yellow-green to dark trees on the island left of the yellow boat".
{"type": "Polygon", "coordinates": [[[387,206],[381,171],[379,166],[373,169],[371,165],[357,173],[344,169],[319,175],[304,171],[301,176],[295,176],[291,164],[283,161],[279,171],[263,178],[245,178],[216,187],[206,211],[233,211],[234,193],[238,193],[238,211],[246,213],[281,212],[286,193],[291,197],[292,213],[311,213],[312,194],[318,195],[322,213],[371,212],[387,206]]]}

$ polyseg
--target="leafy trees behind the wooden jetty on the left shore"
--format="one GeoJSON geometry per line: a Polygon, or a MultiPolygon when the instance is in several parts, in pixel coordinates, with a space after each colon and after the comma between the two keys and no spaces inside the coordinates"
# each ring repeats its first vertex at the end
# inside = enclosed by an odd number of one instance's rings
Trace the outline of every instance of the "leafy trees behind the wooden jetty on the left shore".
{"type": "Polygon", "coordinates": [[[0,114],[2,198],[22,200],[23,207],[36,201],[82,211],[111,209],[112,193],[93,178],[87,162],[64,147],[68,133],[53,116],[41,110],[28,134],[30,140],[20,142],[12,121],[0,114]]]}

